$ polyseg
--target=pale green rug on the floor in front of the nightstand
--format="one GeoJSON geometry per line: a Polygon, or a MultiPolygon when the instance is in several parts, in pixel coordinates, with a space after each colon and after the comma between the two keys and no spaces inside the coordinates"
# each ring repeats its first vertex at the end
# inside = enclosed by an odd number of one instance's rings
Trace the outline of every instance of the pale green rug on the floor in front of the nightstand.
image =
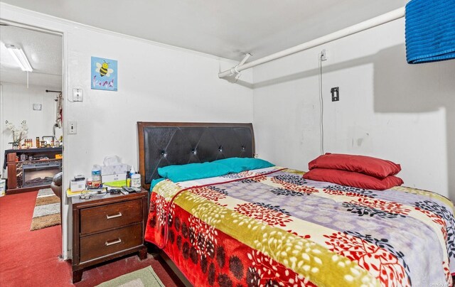
{"type": "Polygon", "coordinates": [[[159,277],[155,274],[154,269],[150,266],[133,271],[129,274],[125,274],[106,281],[98,285],[100,287],[164,287],[164,284],[159,280],[159,277]]]}

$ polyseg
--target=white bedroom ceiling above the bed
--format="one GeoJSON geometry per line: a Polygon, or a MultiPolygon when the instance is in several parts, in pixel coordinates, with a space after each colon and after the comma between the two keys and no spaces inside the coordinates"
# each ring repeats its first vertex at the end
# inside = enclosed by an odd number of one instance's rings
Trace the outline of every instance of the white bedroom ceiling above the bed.
{"type": "Polygon", "coordinates": [[[1,0],[109,31],[232,60],[284,50],[407,0],[1,0]],[[58,2],[58,4],[57,4],[58,2]]]}

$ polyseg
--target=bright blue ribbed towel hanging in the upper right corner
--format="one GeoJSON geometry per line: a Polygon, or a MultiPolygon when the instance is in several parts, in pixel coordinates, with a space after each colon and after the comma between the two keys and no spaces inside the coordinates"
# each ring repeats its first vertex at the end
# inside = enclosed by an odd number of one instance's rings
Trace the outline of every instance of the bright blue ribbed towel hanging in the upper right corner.
{"type": "Polygon", "coordinates": [[[455,0],[412,0],[406,5],[407,63],[455,58],[455,0]]]}

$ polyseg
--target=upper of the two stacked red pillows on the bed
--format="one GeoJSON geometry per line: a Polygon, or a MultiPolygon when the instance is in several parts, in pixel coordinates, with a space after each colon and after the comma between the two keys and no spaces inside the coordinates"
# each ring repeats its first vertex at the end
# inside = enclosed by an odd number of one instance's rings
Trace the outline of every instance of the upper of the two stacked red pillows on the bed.
{"type": "Polygon", "coordinates": [[[396,175],[401,170],[401,166],[397,163],[392,163],[392,161],[372,158],[371,156],[354,156],[336,153],[326,153],[323,156],[319,156],[313,161],[310,161],[308,167],[309,170],[313,168],[349,170],[357,173],[365,173],[376,178],[396,175]]]}

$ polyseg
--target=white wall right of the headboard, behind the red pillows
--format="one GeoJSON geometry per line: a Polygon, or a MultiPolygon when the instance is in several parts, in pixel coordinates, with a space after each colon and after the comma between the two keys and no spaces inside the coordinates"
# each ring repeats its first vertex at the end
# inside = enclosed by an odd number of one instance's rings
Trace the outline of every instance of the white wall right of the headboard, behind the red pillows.
{"type": "Polygon", "coordinates": [[[455,200],[455,61],[408,65],[404,20],[255,67],[262,158],[301,170],[320,154],[318,54],[325,152],[401,163],[405,185],[455,200]],[[340,102],[331,102],[340,87],[340,102]]]}

